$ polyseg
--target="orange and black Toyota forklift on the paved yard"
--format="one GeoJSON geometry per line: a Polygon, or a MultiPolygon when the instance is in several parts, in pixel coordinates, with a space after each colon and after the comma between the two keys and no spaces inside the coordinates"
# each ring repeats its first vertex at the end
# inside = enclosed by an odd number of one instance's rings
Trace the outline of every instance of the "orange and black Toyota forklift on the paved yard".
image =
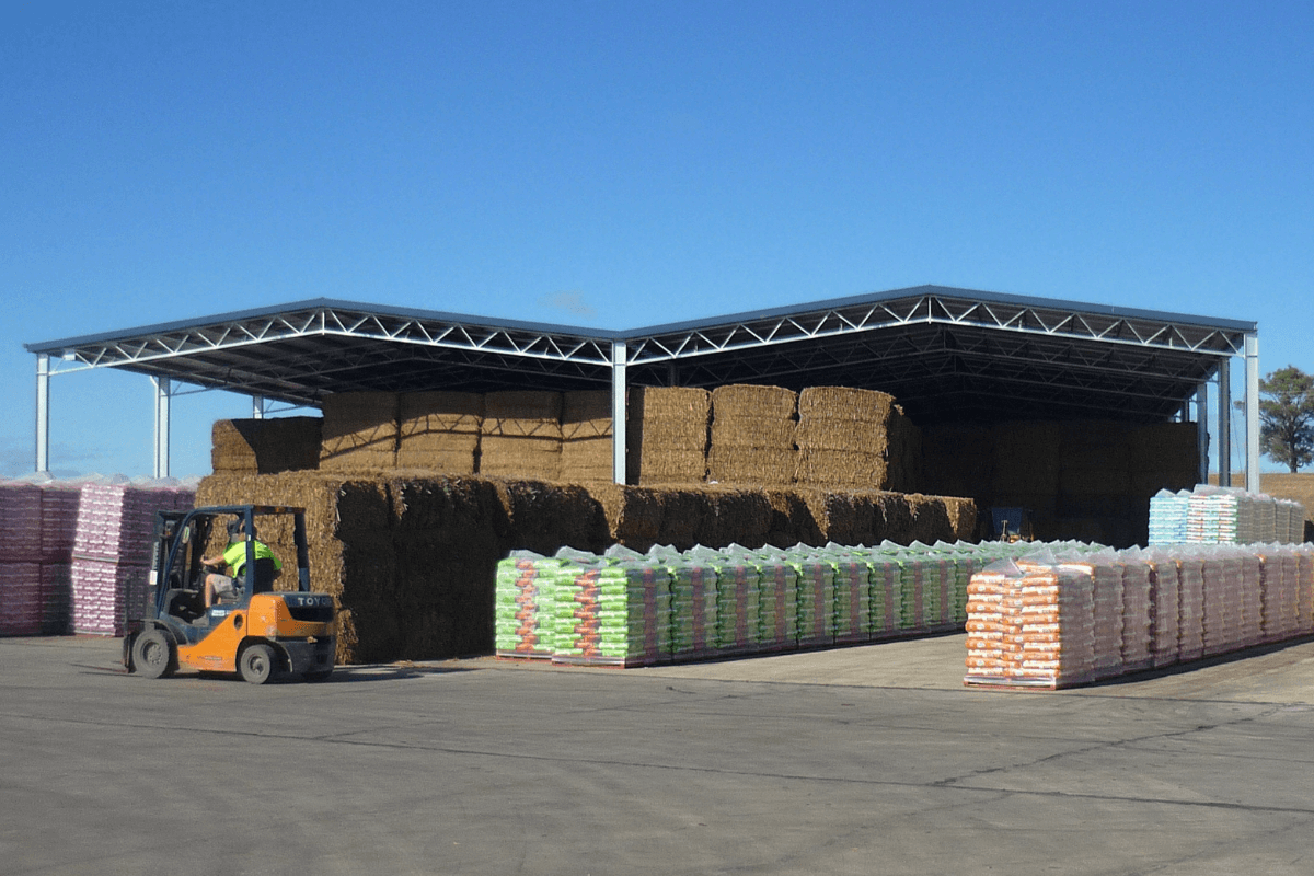
{"type": "Polygon", "coordinates": [[[167,678],[185,668],[235,672],[252,684],[285,676],[318,682],[332,674],[336,647],[334,599],[310,592],[302,508],[246,504],[155,514],[146,609],[129,621],[124,637],[129,672],[167,678]],[[260,525],[281,533],[289,523],[297,587],[275,590],[279,562],[258,556],[256,533],[260,525]],[[244,542],[246,562],[233,592],[206,605],[210,569],[201,561],[225,529],[230,546],[244,542]]]}

